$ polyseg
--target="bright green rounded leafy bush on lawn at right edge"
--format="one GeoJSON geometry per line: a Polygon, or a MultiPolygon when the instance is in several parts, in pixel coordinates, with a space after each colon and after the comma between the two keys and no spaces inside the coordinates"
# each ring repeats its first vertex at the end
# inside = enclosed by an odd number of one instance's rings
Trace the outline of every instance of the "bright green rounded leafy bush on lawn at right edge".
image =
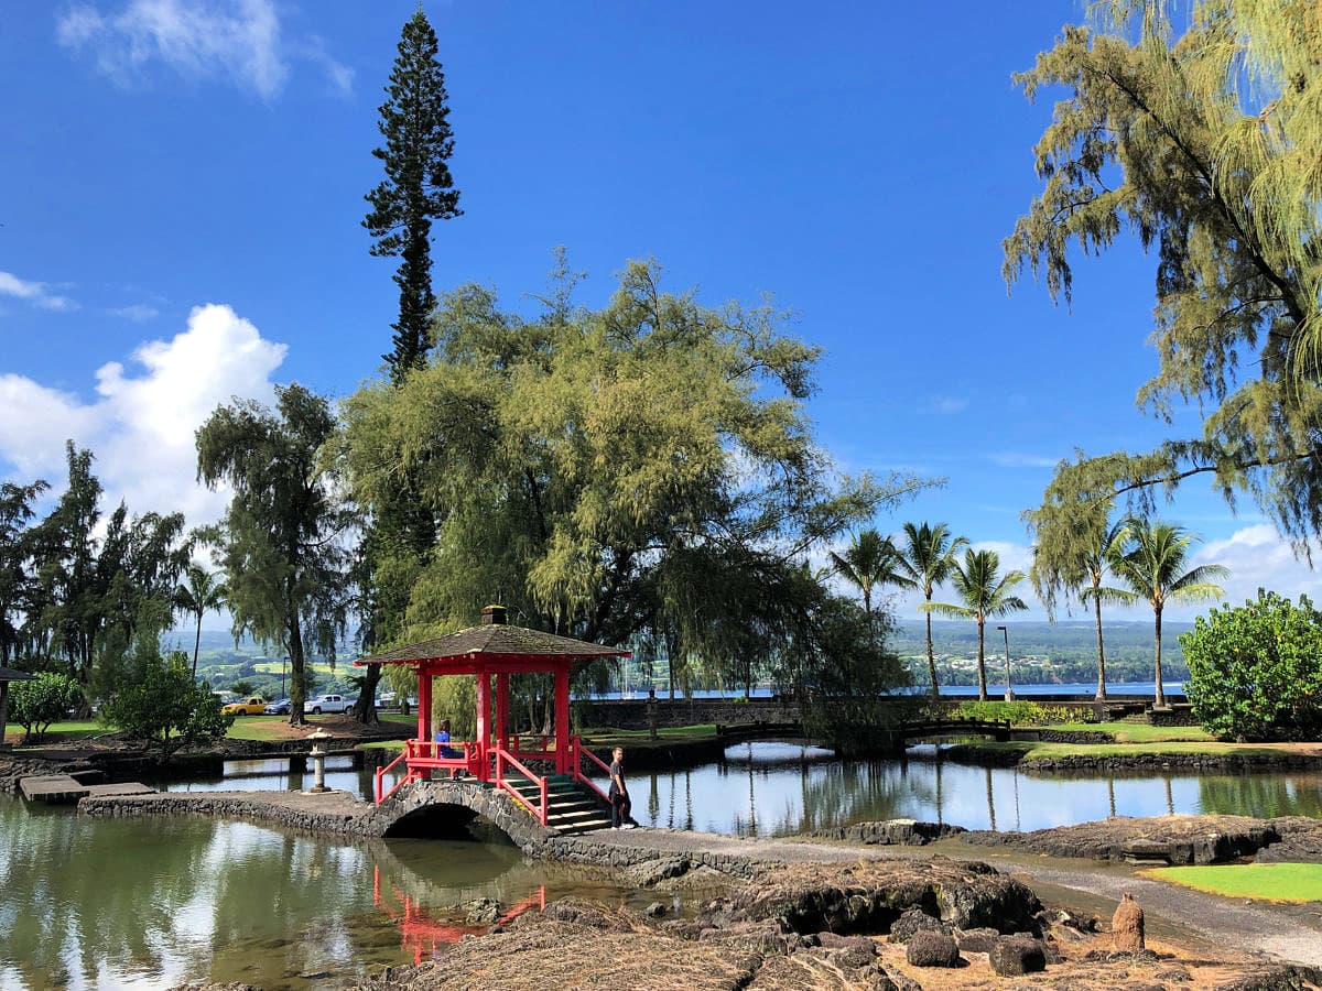
{"type": "Polygon", "coordinates": [[[1322,732],[1322,613],[1259,589],[1211,609],[1181,645],[1194,716],[1224,739],[1315,740],[1322,732]]]}

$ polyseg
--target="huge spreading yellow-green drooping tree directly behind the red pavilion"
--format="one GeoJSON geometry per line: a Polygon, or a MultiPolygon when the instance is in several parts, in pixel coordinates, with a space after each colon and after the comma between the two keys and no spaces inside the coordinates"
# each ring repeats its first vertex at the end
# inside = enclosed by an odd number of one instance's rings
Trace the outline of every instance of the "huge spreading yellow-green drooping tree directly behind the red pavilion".
{"type": "Polygon", "coordinates": [[[806,555],[925,482],[837,474],[804,411],[818,350],[772,305],[703,307],[652,263],[629,263],[600,311],[572,284],[562,267],[534,318],[488,288],[446,295],[428,366],[345,403],[354,498],[416,472],[436,521],[403,634],[501,601],[590,641],[665,636],[672,658],[747,686],[822,614],[806,555]]]}

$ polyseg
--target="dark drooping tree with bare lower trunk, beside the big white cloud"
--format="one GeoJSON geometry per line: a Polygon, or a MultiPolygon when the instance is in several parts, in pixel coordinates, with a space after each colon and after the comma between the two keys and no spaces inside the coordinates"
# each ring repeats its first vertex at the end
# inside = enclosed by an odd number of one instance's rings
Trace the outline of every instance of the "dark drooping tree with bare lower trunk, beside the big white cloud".
{"type": "Polygon", "coordinates": [[[321,457],[334,432],[329,403],[299,385],[276,387],[274,411],[235,400],[197,431],[198,480],[234,492],[213,534],[234,634],[288,655],[292,724],[304,721],[308,654],[334,659],[349,608],[354,518],[321,457]]]}

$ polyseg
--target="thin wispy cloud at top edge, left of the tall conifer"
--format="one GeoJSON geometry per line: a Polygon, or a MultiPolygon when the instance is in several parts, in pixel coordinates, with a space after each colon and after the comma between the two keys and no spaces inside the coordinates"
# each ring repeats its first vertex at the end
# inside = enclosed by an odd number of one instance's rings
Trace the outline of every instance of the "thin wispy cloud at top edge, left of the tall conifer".
{"type": "MultiPolygon", "coordinates": [[[[119,13],[78,4],[57,20],[56,37],[120,83],[160,62],[189,79],[229,78],[272,99],[290,77],[272,0],[128,0],[119,13]]],[[[330,58],[320,38],[293,48],[295,57],[320,65],[340,91],[353,85],[353,70],[330,58]]]]}

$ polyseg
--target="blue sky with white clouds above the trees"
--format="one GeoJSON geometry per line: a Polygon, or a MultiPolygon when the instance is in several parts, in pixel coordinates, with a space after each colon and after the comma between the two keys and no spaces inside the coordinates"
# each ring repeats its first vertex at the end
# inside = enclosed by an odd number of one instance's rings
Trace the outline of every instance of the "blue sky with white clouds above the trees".
{"type": "MultiPolygon", "coordinates": [[[[192,432],[231,395],[333,395],[390,346],[368,255],[377,107],[414,0],[21,4],[0,29],[0,472],[62,480],[63,439],[136,511],[214,517],[192,432]]],[[[849,472],[948,478],[896,514],[1026,566],[1051,465],[1191,432],[1133,406],[1154,263],[1076,272],[1072,311],[1001,239],[1038,188],[1050,99],[1011,81],[1081,4],[427,0],[464,215],[439,289],[546,284],[563,244],[600,304],[629,258],[705,301],[773,292],[826,349],[810,412],[849,472]]],[[[1233,571],[1318,592],[1263,518],[1191,484],[1165,513],[1233,571]]],[[[916,614],[900,603],[903,614],[916,614]]],[[[1187,613],[1186,613],[1187,614],[1187,613]]],[[[1134,613],[1132,618],[1142,618],[1134,613]]]]}

